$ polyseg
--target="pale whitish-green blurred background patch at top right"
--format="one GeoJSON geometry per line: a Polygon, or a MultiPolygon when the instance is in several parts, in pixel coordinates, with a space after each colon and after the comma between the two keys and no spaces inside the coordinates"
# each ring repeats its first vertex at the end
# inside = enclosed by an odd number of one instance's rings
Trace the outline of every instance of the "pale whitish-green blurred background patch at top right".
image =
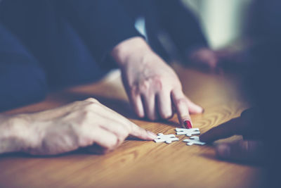
{"type": "Polygon", "coordinates": [[[199,18],[212,49],[221,49],[244,38],[254,0],[182,1],[199,18]]]}

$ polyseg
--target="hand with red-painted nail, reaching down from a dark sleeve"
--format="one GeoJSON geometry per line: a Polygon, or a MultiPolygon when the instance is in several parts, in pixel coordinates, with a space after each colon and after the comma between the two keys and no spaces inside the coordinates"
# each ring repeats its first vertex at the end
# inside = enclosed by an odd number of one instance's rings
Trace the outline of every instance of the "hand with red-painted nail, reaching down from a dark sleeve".
{"type": "Polygon", "coordinates": [[[118,44],[112,56],[122,70],[124,87],[138,117],[171,118],[174,106],[184,126],[187,121],[191,123],[189,113],[202,113],[203,109],[183,94],[174,70],[141,37],[118,44]]]}

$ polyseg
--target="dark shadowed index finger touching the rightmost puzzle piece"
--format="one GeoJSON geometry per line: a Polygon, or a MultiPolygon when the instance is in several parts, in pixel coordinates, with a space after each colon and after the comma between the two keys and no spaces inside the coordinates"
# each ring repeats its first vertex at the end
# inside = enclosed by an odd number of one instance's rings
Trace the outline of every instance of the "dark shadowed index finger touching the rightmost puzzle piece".
{"type": "Polygon", "coordinates": [[[211,128],[200,136],[202,142],[214,142],[217,139],[224,139],[238,134],[242,130],[242,119],[235,118],[226,123],[211,128]]]}

